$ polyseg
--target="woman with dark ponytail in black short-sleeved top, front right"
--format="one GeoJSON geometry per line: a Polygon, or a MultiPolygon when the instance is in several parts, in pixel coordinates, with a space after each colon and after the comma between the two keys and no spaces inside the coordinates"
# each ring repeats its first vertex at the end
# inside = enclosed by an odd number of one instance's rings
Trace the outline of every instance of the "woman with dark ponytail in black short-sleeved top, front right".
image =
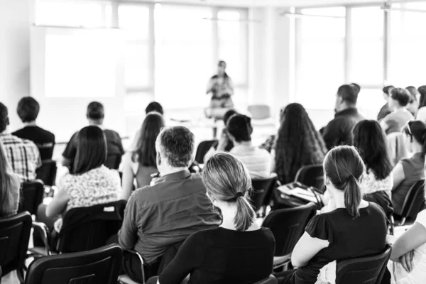
{"type": "MultiPolygon", "coordinates": [[[[334,261],[381,253],[386,246],[386,216],[375,203],[361,199],[364,163],[354,147],[333,148],[324,159],[329,202],[326,213],[313,217],[291,259],[294,271],[277,273],[278,283],[329,281],[334,261]],[[325,278],[325,279],[324,279],[325,278]]],[[[334,273],[335,274],[335,273],[334,273]]]]}

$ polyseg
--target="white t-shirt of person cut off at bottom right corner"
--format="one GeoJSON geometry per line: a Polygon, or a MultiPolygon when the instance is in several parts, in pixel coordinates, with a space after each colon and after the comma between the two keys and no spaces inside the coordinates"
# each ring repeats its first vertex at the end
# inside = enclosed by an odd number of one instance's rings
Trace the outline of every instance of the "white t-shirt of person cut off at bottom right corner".
{"type": "MultiPolygon", "coordinates": [[[[415,222],[426,228],[426,209],[420,212],[415,222]]],[[[389,261],[389,271],[393,271],[392,284],[426,283],[426,243],[414,249],[413,271],[408,273],[400,263],[389,261]]]]}

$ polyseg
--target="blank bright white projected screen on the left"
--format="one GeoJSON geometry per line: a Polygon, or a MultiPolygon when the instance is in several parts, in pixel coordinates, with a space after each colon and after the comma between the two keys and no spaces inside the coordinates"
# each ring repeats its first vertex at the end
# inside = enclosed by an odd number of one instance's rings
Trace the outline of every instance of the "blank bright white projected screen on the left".
{"type": "Polygon", "coordinates": [[[45,97],[114,97],[119,40],[111,31],[47,33],[45,97]]]}

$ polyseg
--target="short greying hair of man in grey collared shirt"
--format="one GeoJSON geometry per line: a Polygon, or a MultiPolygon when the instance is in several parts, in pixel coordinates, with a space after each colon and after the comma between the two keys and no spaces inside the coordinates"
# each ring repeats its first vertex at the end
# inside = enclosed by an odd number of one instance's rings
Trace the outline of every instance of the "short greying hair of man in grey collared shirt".
{"type": "Polygon", "coordinates": [[[188,167],[194,158],[194,134],[185,126],[164,128],[158,134],[155,148],[174,168],[188,167]]]}

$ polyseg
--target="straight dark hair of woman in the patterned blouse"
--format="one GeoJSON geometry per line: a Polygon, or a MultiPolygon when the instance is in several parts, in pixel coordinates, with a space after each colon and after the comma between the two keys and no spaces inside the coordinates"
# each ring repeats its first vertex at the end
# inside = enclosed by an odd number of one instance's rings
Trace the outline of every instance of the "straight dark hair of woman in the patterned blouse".
{"type": "Polygon", "coordinates": [[[107,139],[98,126],[86,126],[77,134],[77,153],[74,160],[75,175],[99,168],[107,160],[107,139]]]}

